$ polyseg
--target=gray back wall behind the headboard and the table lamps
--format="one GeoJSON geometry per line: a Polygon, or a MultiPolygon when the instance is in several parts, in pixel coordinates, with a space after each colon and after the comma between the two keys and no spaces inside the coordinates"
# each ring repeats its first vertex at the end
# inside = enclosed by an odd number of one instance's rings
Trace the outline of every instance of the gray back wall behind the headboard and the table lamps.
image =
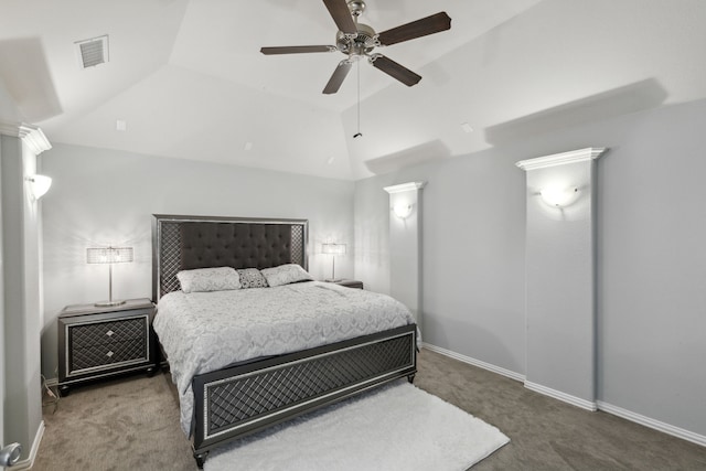
{"type": "MultiPolygon", "coordinates": [[[[114,298],[151,298],[151,214],[307,218],[317,279],[331,272],[321,243],[353,243],[352,182],[62,144],[41,161],[54,179],[42,199],[49,378],[57,375],[61,309],[108,297],[107,268],[86,265],[87,247],[133,247],[135,263],[114,267],[114,298]]],[[[336,257],[338,276],[352,277],[353,257],[336,257]]]]}

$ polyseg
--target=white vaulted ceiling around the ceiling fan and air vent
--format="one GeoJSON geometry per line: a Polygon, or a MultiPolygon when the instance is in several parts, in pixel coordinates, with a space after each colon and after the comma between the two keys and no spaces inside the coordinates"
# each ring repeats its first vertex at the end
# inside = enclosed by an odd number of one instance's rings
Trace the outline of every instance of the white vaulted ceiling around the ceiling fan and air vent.
{"type": "Polygon", "coordinates": [[[353,139],[355,66],[323,95],[340,53],[259,53],[333,44],[322,1],[0,0],[0,121],[53,143],[350,180],[706,97],[703,0],[367,0],[361,22],[438,11],[450,31],[379,50],[418,85],[360,64],[353,139]],[[103,34],[109,62],[82,69],[74,43],[103,34]]]}

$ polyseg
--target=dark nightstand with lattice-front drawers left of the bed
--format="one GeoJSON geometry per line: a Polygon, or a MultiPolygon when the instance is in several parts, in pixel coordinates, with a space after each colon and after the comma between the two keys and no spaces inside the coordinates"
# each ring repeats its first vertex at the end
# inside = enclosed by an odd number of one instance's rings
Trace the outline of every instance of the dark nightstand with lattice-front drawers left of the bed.
{"type": "Polygon", "coordinates": [[[58,390],[76,384],[157,365],[154,304],[130,299],[109,308],[67,306],[58,315],[58,390]]]}

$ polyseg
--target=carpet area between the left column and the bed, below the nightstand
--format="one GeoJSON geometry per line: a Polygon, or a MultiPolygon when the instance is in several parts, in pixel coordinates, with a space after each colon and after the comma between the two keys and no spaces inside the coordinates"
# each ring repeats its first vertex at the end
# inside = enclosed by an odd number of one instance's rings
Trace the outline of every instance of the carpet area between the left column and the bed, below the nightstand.
{"type": "Polygon", "coordinates": [[[163,374],[72,389],[55,411],[44,407],[44,437],[32,470],[196,470],[175,394],[163,374]]]}

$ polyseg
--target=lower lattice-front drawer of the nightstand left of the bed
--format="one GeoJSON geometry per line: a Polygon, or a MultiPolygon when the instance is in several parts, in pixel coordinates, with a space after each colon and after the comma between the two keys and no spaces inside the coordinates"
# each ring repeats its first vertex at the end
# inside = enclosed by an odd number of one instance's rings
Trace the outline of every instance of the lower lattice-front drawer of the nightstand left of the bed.
{"type": "Polygon", "coordinates": [[[69,357],[68,376],[84,374],[87,370],[114,367],[126,362],[147,361],[147,342],[145,338],[141,338],[126,342],[93,345],[86,349],[74,349],[69,352],[69,357]]]}

